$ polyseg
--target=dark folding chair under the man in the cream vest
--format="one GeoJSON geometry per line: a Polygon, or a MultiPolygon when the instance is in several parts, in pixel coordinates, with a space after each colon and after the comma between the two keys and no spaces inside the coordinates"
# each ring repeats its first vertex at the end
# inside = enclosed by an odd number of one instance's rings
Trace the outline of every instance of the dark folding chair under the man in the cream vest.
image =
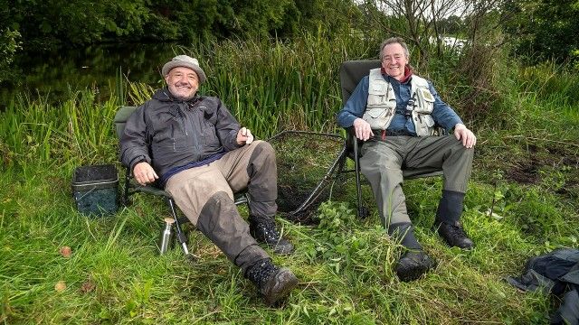
{"type": "MultiPolygon", "coordinates": [[[[375,68],[380,68],[380,60],[347,60],[340,66],[340,86],[342,89],[342,102],[346,105],[347,99],[350,98],[352,92],[356,89],[356,86],[362,78],[370,73],[370,70],[375,68]]],[[[442,130],[438,131],[439,134],[444,134],[442,130]]],[[[346,129],[346,141],[344,144],[344,151],[338,160],[342,160],[342,163],[338,165],[337,173],[344,172],[356,172],[356,194],[357,194],[357,216],[359,218],[364,218],[368,215],[367,209],[362,205],[362,190],[360,184],[360,149],[364,142],[356,139],[356,134],[354,127],[349,127],[346,129]],[[346,158],[350,158],[354,161],[354,170],[345,169],[346,163],[344,161],[346,158]]],[[[415,178],[431,177],[441,175],[440,169],[432,168],[422,168],[422,169],[412,169],[403,170],[403,178],[405,180],[412,180],[415,178]]]]}

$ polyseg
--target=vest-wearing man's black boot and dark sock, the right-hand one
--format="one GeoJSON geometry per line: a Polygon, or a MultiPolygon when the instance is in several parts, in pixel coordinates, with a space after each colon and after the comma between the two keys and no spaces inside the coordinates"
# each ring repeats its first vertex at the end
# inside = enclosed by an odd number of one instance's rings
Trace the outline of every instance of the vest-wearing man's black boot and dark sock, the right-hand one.
{"type": "Polygon", "coordinates": [[[464,193],[454,190],[442,190],[441,202],[436,211],[434,229],[449,246],[457,246],[461,249],[471,249],[474,246],[472,240],[460,225],[464,193]]]}

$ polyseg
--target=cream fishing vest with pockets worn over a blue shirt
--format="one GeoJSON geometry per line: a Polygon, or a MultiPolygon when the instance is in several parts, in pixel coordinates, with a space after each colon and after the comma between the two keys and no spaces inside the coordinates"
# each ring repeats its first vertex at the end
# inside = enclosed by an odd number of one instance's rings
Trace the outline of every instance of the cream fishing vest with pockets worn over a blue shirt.
{"type": "MultiPolygon", "coordinates": [[[[390,82],[384,80],[380,68],[370,70],[368,101],[362,118],[373,130],[385,130],[396,114],[396,96],[390,82]]],[[[428,88],[428,81],[418,76],[410,80],[411,93],[407,110],[411,111],[416,135],[432,135],[434,120],[431,113],[434,97],[428,88]]]]}

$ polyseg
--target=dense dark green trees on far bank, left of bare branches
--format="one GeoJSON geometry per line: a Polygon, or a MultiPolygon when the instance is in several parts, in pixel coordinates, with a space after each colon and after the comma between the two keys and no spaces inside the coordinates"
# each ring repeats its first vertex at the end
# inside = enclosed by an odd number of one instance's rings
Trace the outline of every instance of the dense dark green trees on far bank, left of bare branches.
{"type": "MultiPolygon", "coordinates": [[[[0,0],[0,4],[3,1],[0,0]]],[[[96,42],[196,42],[229,37],[290,38],[319,27],[346,28],[360,12],[351,0],[14,0],[0,31],[24,49],[96,42]]]]}

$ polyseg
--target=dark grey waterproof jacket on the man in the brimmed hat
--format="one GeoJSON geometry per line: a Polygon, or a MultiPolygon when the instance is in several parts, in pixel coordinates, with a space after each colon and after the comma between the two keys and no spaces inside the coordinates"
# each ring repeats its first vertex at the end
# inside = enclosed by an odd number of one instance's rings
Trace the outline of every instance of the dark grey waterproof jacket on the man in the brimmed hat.
{"type": "Polygon", "coordinates": [[[120,138],[120,161],[131,171],[145,157],[158,175],[240,147],[240,125],[219,98],[175,98],[167,88],[128,117],[120,138]],[[203,114],[199,114],[200,112],[203,114]]]}

